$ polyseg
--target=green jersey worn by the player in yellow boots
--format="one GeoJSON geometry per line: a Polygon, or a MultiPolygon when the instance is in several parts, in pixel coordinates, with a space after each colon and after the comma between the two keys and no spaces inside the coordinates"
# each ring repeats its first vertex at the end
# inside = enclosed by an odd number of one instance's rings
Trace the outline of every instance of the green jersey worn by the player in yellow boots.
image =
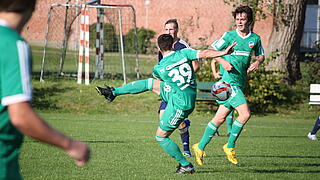
{"type": "Polygon", "coordinates": [[[223,72],[221,80],[231,85],[240,86],[243,89],[247,81],[247,69],[250,66],[251,56],[264,56],[264,51],[261,39],[257,34],[250,32],[247,36],[242,37],[236,29],[224,33],[211,46],[215,50],[221,51],[231,45],[233,41],[237,42],[237,45],[233,47],[234,52],[223,56],[225,60],[232,64],[233,69],[231,71],[224,71],[223,68],[220,69],[223,72]]]}

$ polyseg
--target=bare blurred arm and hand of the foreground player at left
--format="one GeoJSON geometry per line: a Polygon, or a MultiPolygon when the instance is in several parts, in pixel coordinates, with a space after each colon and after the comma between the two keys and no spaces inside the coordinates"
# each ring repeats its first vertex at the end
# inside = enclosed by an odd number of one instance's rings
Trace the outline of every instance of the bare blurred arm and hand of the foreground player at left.
{"type": "Polygon", "coordinates": [[[76,164],[79,166],[89,160],[90,150],[86,144],[73,140],[51,128],[33,111],[29,102],[10,104],[8,111],[12,125],[21,133],[63,149],[76,160],[76,164]]]}

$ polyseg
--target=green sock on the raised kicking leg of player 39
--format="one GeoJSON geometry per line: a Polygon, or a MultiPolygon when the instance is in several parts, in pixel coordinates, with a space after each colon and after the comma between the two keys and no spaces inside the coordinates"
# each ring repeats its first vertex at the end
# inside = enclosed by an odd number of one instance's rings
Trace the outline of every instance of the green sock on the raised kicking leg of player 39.
{"type": "Polygon", "coordinates": [[[151,91],[153,88],[153,78],[133,81],[124,86],[115,88],[113,94],[115,96],[123,95],[123,94],[138,94],[145,91],[151,91]]]}

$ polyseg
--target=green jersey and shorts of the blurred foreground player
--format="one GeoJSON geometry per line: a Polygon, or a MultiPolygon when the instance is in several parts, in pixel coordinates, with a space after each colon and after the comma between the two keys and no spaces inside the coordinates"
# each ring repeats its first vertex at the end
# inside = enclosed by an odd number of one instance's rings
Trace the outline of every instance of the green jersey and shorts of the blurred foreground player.
{"type": "Polygon", "coordinates": [[[10,104],[30,101],[31,56],[27,43],[0,20],[0,179],[19,179],[23,135],[11,124],[10,104]]]}

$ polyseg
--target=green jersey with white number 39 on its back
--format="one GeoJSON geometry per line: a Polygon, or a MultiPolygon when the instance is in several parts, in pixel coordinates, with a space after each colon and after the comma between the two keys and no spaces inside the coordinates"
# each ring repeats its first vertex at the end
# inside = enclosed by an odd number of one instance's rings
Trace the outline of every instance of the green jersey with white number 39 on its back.
{"type": "Polygon", "coordinates": [[[177,97],[176,102],[184,101],[177,103],[181,109],[194,108],[197,84],[192,60],[198,59],[198,55],[199,51],[193,49],[174,51],[153,68],[153,76],[165,82],[165,91],[172,92],[177,97]]]}

